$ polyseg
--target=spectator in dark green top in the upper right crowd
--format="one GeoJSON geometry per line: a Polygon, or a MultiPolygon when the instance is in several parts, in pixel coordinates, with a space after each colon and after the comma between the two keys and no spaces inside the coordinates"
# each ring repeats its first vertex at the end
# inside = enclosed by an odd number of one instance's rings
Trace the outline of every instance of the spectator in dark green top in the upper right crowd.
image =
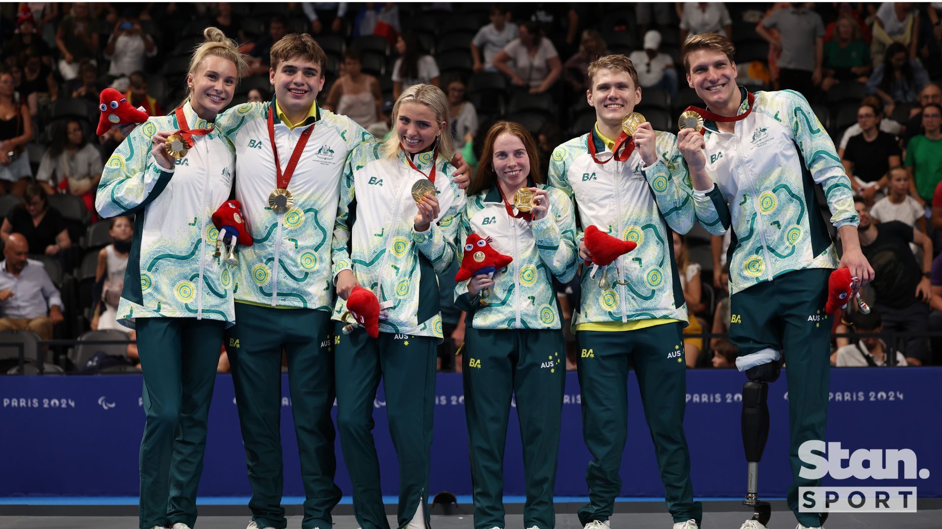
{"type": "Polygon", "coordinates": [[[849,14],[837,19],[836,38],[824,42],[824,80],[827,91],[838,82],[867,83],[870,71],[870,49],[861,36],[860,26],[849,14]]]}

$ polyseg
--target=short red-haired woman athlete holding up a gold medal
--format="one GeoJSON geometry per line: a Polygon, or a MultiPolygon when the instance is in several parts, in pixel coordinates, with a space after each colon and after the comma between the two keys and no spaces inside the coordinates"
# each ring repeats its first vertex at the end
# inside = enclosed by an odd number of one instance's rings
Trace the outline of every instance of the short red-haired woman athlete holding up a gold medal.
{"type": "Polygon", "coordinates": [[[545,187],[536,144],[520,124],[495,123],[480,159],[459,240],[477,233],[513,261],[494,279],[477,275],[455,288],[456,305],[467,313],[464,410],[474,526],[505,527],[504,445],[515,397],[527,483],[524,527],[552,529],[566,373],[553,277],[565,283],[576,275],[576,216],[564,192],[545,187]],[[485,288],[492,292],[481,302],[485,288]]]}

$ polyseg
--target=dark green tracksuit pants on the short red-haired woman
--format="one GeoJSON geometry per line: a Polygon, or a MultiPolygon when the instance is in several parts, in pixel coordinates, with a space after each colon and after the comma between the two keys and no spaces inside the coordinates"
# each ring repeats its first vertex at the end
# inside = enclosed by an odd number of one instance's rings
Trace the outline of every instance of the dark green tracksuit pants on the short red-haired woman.
{"type": "Polygon", "coordinates": [[[463,360],[475,529],[506,526],[504,447],[512,397],[524,445],[524,527],[553,529],[553,488],[566,381],[562,331],[468,328],[463,360]]]}

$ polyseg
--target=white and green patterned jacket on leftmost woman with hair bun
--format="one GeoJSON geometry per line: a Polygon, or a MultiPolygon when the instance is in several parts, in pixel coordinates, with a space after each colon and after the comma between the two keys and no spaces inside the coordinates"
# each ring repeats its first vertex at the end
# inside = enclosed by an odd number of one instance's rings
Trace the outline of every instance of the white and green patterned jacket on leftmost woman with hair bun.
{"type": "MultiPolygon", "coordinates": [[[[208,128],[189,103],[191,129],[208,128]]],[[[176,131],[176,117],[154,116],[138,125],[108,158],[95,196],[104,217],[135,215],[134,240],[118,304],[122,325],[136,318],[206,318],[235,321],[233,270],[213,257],[219,231],[212,215],[229,198],[235,152],[219,134],[193,136],[193,148],[171,170],[151,154],[151,137],[176,131]]]]}

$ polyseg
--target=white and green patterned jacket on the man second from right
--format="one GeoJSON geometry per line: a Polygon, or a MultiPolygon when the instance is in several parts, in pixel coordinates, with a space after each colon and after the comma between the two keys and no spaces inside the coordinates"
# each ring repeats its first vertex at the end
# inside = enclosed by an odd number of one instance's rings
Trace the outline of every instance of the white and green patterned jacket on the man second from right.
{"type": "Polygon", "coordinates": [[[585,228],[599,230],[638,247],[619,257],[595,276],[592,267],[581,279],[581,306],[573,325],[674,318],[687,321],[687,304],[674,264],[671,232],[690,232],[693,223],[721,224],[715,206],[719,191],[714,186],[705,196],[693,195],[690,174],[677,149],[676,137],[657,133],[658,161],[644,167],[641,153],[634,151],[625,162],[612,159],[612,152],[594,135],[578,136],[553,152],[549,184],[576,201],[579,226],[577,241],[585,228]],[[589,141],[595,141],[595,157],[589,141]],[[598,282],[606,272],[609,288],[598,282]],[[619,278],[626,284],[618,284],[619,278]]]}

